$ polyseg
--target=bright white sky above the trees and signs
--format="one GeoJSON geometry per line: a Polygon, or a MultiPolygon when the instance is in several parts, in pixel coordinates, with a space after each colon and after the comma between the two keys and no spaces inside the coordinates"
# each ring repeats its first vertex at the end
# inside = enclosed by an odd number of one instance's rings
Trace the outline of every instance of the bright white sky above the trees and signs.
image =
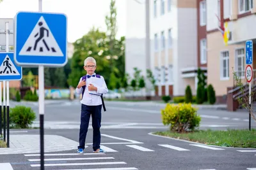
{"type": "MultiPolygon", "coordinates": [[[[42,0],[42,2],[43,12],[67,15],[70,43],[81,38],[93,26],[106,31],[105,16],[109,13],[110,0],[42,0]]],[[[117,38],[125,36],[125,4],[125,0],[116,0],[117,38]]],[[[18,11],[38,11],[38,0],[3,0],[0,3],[0,18],[13,18],[18,11]]]]}

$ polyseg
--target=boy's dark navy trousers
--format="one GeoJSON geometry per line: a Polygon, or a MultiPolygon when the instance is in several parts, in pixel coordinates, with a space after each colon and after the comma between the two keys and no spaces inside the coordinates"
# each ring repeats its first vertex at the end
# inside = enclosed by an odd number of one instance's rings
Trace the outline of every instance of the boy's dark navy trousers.
{"type": "Polygon", "coordinates": [[[84,150],[86,134],[88,131],[90,121],[90,115],[92,115],[93,150],[97,150],[100,148],[101,108],[102,104],[100,104],[99,106],[87,106],[82,104],[78,149],[82,148],[84,150]]]}

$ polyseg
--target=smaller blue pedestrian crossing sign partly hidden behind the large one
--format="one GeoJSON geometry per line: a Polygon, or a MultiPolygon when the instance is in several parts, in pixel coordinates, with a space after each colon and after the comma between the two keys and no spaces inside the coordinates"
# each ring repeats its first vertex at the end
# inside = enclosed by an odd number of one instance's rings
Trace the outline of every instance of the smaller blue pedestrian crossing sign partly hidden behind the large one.
{"type": "Polygon", "coordinates": [[[17,66],[13,53],[0,53],[0,80],[21,80],[22,67],[17,66]]]}

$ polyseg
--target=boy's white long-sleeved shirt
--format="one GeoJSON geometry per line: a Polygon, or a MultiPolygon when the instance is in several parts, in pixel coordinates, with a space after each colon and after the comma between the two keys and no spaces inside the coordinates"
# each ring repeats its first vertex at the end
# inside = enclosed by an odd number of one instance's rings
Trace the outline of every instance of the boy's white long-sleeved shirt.
{"type": "MultiPolygon", "coordinates": [[[[87,76],[88,74],[86,74],[87,76]]],[[[94,73],[95,75],[95,73],[94,73]]],[[[102,87],[97,87],[97,93],[98,94],[107,94],[108,93],[108,87],[106,85],[106,82],[104,80],[104,77],[100,76],[100,80],[102,80],[102,87]]],[[[79,80],[79,83],[82,81],[82,77],[79,80]]],[[[100,96],[89,94],[88,86],[92,83],[92,78],[86,78],[86,87],[84,90],[83,99],[81,99],[80,103],[87,105],[87,106],[98,106],[102,104],[100,96]]],[[[77,94],[82,94],[83,87],[80,89],[76,88],[77,94]]]]}

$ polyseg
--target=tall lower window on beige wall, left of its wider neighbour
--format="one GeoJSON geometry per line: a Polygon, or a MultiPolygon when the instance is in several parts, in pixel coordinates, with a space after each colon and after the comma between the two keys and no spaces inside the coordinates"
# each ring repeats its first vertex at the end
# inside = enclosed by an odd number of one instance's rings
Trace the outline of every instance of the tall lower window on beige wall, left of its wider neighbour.
{"type": "Polygon", "coordinates": [[[221,79],[229,78],[229,53],[221,52],[221,79]]]}

